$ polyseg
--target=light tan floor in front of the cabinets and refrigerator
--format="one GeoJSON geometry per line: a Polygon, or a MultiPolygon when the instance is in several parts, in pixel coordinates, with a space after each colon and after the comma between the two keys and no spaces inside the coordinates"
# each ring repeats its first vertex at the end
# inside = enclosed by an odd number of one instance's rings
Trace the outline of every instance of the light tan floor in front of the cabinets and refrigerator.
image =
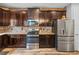
{"type": "Polygon", "coordinates": [[[3,51],[9,51],[7,55],[79,55],[79,52],[58,52],[55,48],[6,48],[3,51]]]}

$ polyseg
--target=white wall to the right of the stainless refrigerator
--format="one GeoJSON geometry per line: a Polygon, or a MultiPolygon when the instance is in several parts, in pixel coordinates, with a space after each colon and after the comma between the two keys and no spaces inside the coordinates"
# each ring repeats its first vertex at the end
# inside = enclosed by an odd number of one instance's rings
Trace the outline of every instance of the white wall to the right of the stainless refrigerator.
{"type": "Polygon", "coordinates": [[[74,20],[74,49],[79,51],[79,4],[70,4],[66,7],[66,16],[74,20]]]}

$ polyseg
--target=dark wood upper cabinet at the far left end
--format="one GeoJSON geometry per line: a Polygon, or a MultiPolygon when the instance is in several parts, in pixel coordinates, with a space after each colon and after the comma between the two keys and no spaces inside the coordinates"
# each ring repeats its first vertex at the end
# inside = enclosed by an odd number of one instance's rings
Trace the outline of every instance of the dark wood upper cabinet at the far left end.
{"type": "Polygon", "coordinates": [[[10,11],[0,9],[0,26],[10,25],[10,11]]]}

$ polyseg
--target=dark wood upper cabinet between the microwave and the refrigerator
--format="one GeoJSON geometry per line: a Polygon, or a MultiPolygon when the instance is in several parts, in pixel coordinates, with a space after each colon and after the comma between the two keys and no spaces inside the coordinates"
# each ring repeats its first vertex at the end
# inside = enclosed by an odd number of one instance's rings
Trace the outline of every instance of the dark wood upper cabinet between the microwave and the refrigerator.
{"type": "Polygon", "coordinates": [[[55,19],[53,17],[56,17],[56,15],[53,16],[53,14],[51,12],[47,12],[47,11],[41,12],[39,14],[39,19],[40,19],[40,22],[41,22],[39,24],[39,26],[52,26],[53,25],[53,19],[55,19]]]}

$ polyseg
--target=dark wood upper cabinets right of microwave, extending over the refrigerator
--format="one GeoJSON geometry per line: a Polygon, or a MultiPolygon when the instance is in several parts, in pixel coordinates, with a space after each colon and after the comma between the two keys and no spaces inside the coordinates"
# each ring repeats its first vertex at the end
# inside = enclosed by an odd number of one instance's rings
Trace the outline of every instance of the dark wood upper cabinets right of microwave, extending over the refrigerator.
{"type": "Polygon", "coordinates": [[[63,15],[66,16],[65,11],[41,11],[39,20],[43,22],[39,26],[53,26],[56,20],[61,19],[63,15]]]}

